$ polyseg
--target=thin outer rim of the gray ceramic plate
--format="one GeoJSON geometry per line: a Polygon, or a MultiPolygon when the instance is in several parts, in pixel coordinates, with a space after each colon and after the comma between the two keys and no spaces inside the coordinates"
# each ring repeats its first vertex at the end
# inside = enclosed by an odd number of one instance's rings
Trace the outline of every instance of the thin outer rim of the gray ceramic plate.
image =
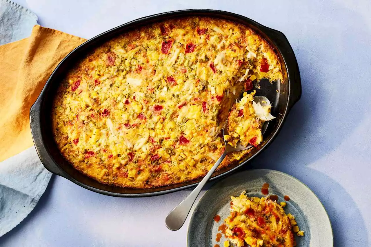
{"type": "Polygon", "coordinates": [[[209,189],[208,189],[208,190],[207,190],[207,191],[202,195],[202,197],[197,201],[197,204],[196,204],[196,206],[194,207],[194,210],[193,210],[193,212],[192,212],[191,218],[190,218],[190,220],[189,220],[189,222],[188,222],[188,226],[187,226],[187,247],[190,247],[190,245],[189,245],[189,239],[190,239],[190,226],[191,226],[191,222],[194,220],[194,215],[195,215],[194,213],[196,212],[197,208],[200,207],[200,203],[201,203],[202,199],[205,197],[205,195],[206,195],[208,192],[210,192],[210,190],[211,190],[212,188],[216,187],[218,183],[223,182],[224,180],[227,180],[227,179],[229,179],[229,178],[231,178],[231,177],[233,177],[233,176],[238,176],[238,175],[241,174],[241,173],[244,173],[244,172],[250,172],[250,171],[275,172],[275,173],[278,173],[278,174],[280,174],[280,175],[284,175],[284,176],[290,177],[290,178],[292,178],[293,180],[296,180],[296,181],[298,181],[299,183],[303,184],[303,185],[304,185],[304,186],[309,190],[309,192],[311,192],[311,194],[313,194],[313,195],[317,198],[317,200],[320,202],[322,208],[323,208],[324,211],[325,211],[326,219],[328,220],[328,223],[329,223],[328,225],[329,225],[330,230],[331,230],[331,240],[332,240],[331,242],[332,242],[332,246],[330,246],[330,247],[334,247],[334,231],[333,231],[333,229],[332,229],[332,224],[331,224],[330,217],[328,216],[328,213],[327,213],[327,210],[326,210],[324,204],[323,204],[322,201],[319,199],[319,197],[314,193],[314,191],[312,191],[311,188],[309,188],[309,186],[306,185],[304,182],[300,181],[298,178],[296,178],[296,177],[294,177],[294,176],[292,176],[292,175],[290,175],[290,174],[287,174],[287,173],[282,172],[282,171],[277,171],[277,170],[273,170],[273,169],[264,169],[264,168],[247,169],[247,170],[245,170],[245,171],[236,172],[236,173],[234,173],[234,174],[232,174],[232,175],[230,175],[230,176],[228,176],[228,177],[226,177],[226,178],[223,178],[223,179],[220,179],[220,180],[216,181],[213,185],[210,186],[210,188],[209,188],[209,189]]]}

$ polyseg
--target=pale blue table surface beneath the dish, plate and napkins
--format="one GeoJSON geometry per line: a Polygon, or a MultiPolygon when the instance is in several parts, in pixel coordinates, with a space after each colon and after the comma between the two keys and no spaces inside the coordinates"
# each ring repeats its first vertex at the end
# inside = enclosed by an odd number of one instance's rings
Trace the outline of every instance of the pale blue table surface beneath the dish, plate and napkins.
{"type": "MultiPolygon", "coordinates": [[[[88,39],[142,16],[192,8],[231,11],[285,33],[303,94],[252,165],[307,184],[325,205],[335,246],[371,245],[371,1],[16,2],[42,26],[88,39]]],[[[0,246],[186,246],[187,226],[173,232],[164,219],[189,193],[114,198],[53,177],[35,210],[0,238],[0,246]]]]}

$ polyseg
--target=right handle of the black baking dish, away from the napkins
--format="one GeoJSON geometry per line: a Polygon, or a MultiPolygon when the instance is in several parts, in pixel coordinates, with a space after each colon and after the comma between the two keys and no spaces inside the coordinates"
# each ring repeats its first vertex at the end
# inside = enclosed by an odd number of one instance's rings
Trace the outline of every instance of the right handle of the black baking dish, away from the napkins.
{"type": "Polygon", "coordinates": [[[271,29],[269,27],[264,27],[267,36],[275,43],[281,53],[283,60],[285,62],[286,68],[290,68],[288,71],[288,81],[289,81],[289,100],[288,109],[290,110],[296,102],[299,101],[302,94],[302,86],[300,79],[300,71],[298,66],[298,61],[296,60],[295,53],[290,46],[288,39],[282,32],[271,29]]]}

